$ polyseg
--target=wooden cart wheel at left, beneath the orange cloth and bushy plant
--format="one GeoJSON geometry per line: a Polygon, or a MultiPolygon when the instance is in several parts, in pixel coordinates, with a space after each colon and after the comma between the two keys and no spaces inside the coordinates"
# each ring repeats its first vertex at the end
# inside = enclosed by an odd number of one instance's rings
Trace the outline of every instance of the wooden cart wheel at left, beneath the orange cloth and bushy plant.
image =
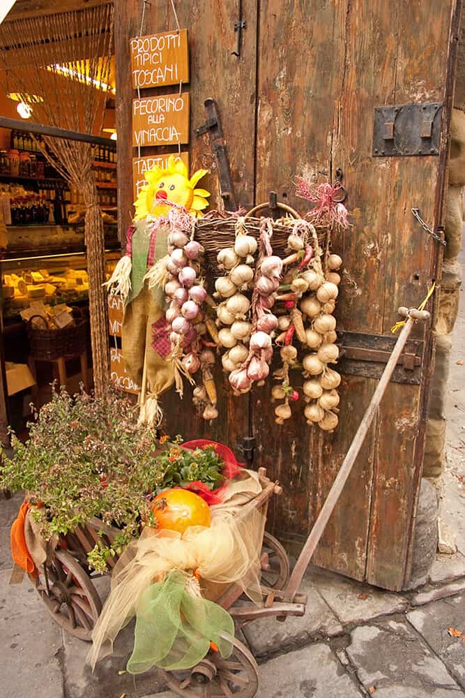
{"type": "Polygon", "coordinates": [[[77,560],[56,549],[46,570],[40,570],[37,579],[30,579],[54,621],[71,635],[90,641],[102,602],[77,560]]]}

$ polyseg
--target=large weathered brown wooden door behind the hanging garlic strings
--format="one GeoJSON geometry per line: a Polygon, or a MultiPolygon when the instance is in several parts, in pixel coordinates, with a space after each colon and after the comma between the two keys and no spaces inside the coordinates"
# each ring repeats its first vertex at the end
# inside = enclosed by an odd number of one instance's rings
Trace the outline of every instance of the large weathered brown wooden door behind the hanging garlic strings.
{"type": "MultiPolygon", "coordinates": [[[[132,158],[128,42],[139,33],[141,5],[115,4],[121,182],[132,158]]],[[[233,55],[235,0],[175,4],[189,31],[191,80],[183,89],[191,96],[191,163],[211,168],[206,186],[213,207],[219,202],[215,161],[208,137],[195,135],[207,97],[218,102],[236,198],[245,207],[268,200],[273,190],[303,213],[304,202],[294,197],[296,175],[317,172],[333,181],[342,170],[353,226],[334,241],[344,259],[339,327],[388,342],[397,307],[418,304],[436,274],[438,247],[411,208],[420,208],[429,225],[441,225],[457,0],[397,0],[389,7],[381,0],[288,0],[285,7],[278,0],[243,0],[247,27],[240,57],[233,55]],[[374,107],[441,101],[439,157],[372,156],[374,107]]],[[[149,8],[143,34],[175,27],[171,3],[157,0],[149,8]]],[[[131,197],[128,179],[121,223],[128,221],[131,197]]],[[[314,557],[319,565],[390,589],[402,588],[409,574],[422,467],[432,341],[429,329],[418,328],[415,336],[422,341],[418,384],[391,383],[314,557]]],[[[254,436],[254,468],[266,466],[285,490],[270,507],[270,527],[290,544],[302,542],[376,380],[369,364],[357,375],[344,374],[340,426],[330,435],[310,429],[301,417],[278,427],[269,385],[236,399],[221,378],[221,414],[213,427],[193,417],[188,394],[181,403],[170,395],[169,431],[206,434],[232,447],[254,436]]]]}

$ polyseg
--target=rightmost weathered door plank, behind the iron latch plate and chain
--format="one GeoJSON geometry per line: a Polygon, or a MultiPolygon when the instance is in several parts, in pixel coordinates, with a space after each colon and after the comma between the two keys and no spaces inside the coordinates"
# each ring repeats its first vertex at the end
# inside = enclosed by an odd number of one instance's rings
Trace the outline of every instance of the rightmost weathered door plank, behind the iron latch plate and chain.
{"type": "MultiPolygon", "coordinates": [[[[455,2],[404,0],[397,27],[395,102],[443,101],[448,68],[451,10],[455,2]],[[412,27],[422,27],[416,40],[412,27]]],[[[437,157],[391,158],[390,237],[386,249],[386,295],[383,332],[397,319],[399,305],[417,305],[432,283],[438,255],[434,240],[411,214],[420,208],[434,225],[436,186],[441,177],[437,157]]],[[[430,326],[418,327],[412,336],[425,336],[429,362],[430,326]]],[[[429,366],[425,366],[425,376],[429,366]]],[[[373,483],[372,522],[369,535],[367,580],[378,586],[402,588],[406,570],[411,519],[422,452],[416,448],[425,401],[421,387],[390,385],[379,416],[379,436],[373,483]]]]}

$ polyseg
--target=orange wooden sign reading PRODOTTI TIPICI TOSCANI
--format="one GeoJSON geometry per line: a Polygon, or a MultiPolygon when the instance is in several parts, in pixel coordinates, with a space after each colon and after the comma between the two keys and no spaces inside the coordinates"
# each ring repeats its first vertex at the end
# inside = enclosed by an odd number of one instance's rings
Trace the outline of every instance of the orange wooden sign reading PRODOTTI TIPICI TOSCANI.
{"type": "Polygon", "coordinates": [[[189,82],[188,30],[131,39],[132,88],[189,82]]]}

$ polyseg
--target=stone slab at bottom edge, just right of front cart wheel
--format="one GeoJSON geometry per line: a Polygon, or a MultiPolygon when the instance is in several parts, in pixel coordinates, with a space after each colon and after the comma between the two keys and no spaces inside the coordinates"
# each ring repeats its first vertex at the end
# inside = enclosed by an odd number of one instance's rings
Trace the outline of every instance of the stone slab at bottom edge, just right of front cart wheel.
{"type": "MultiPolygon", "coordinates": [[[[323,642],[259,666],[256,698],[360,698],[362,695],[323,642]]],[[[165,691],[144,698],[176,698],[176,694],[165,691]]]]}

